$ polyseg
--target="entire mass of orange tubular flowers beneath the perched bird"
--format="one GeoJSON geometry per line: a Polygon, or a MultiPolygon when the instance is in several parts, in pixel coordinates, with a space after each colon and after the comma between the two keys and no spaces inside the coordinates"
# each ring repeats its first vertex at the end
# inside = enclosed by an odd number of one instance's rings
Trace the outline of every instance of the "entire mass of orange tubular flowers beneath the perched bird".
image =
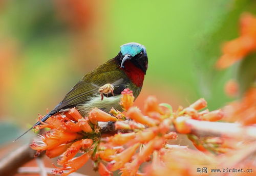
{"type": "MultiPolygon", "coordinates": [[[[41,135],[40,141],[33,142],[31,148],[38,152],[46,150],[46,155],[50,158],[60,156],[57,162],[60,167],[55,166],[55,174],[68,175],[83,166],[90,158],[100,175],[112,175],[116,170],[120,170],[122,176],[164,175],[152,174],[156,170],[151,174],[142,174],[139,168],[146,161],[152,161],[148,170],[167,166],[166,156],[171,155],[171,151],[177,148],[186,149],[168,144],[168,141],[177,138],[175,131],[182,134],[191,132],[186,120],[217,121],[223,116],[221,110],[200,111],[207,106],[203,98],[187,108],[179,107],[175,112],[169,105],[159,104],[154,96],[149,96],[145,100],[143,111],[135,107],[133,102],[132,91],[125,89],[120,102],[124,112],[112,108],[108,114],[94,108],[88,117],[82,117],[75,108],[72,108],[68,112],[54,115],[47,123],[42,122],[37,127],[49,128],[50,131],[41,135]],[[117,133],[101,134],[98,121],[115,122],[117,133]]],[[[195,138],[190,139],[197,147],[199,146],[195,138]]],[[[218,138],[204,141],[207,141],[208,145],[220,144],[218,138]]],[[[206,150],[207,147],[198,148],[206,150]]],[[[172,170],[172,167],[166,169],[172,170]]]]}

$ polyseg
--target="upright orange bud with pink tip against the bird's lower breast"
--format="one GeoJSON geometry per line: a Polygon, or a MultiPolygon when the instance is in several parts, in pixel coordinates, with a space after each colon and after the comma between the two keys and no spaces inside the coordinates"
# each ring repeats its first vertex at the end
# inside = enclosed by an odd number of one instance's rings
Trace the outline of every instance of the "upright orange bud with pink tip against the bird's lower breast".
{"type": "Polygon", "coordinates": [[[129,110],[133,106],[134,96],[133,91],[130,89],[124,89],[122,91],[121,102],[119,103],[124,111],[129,110]]]}

